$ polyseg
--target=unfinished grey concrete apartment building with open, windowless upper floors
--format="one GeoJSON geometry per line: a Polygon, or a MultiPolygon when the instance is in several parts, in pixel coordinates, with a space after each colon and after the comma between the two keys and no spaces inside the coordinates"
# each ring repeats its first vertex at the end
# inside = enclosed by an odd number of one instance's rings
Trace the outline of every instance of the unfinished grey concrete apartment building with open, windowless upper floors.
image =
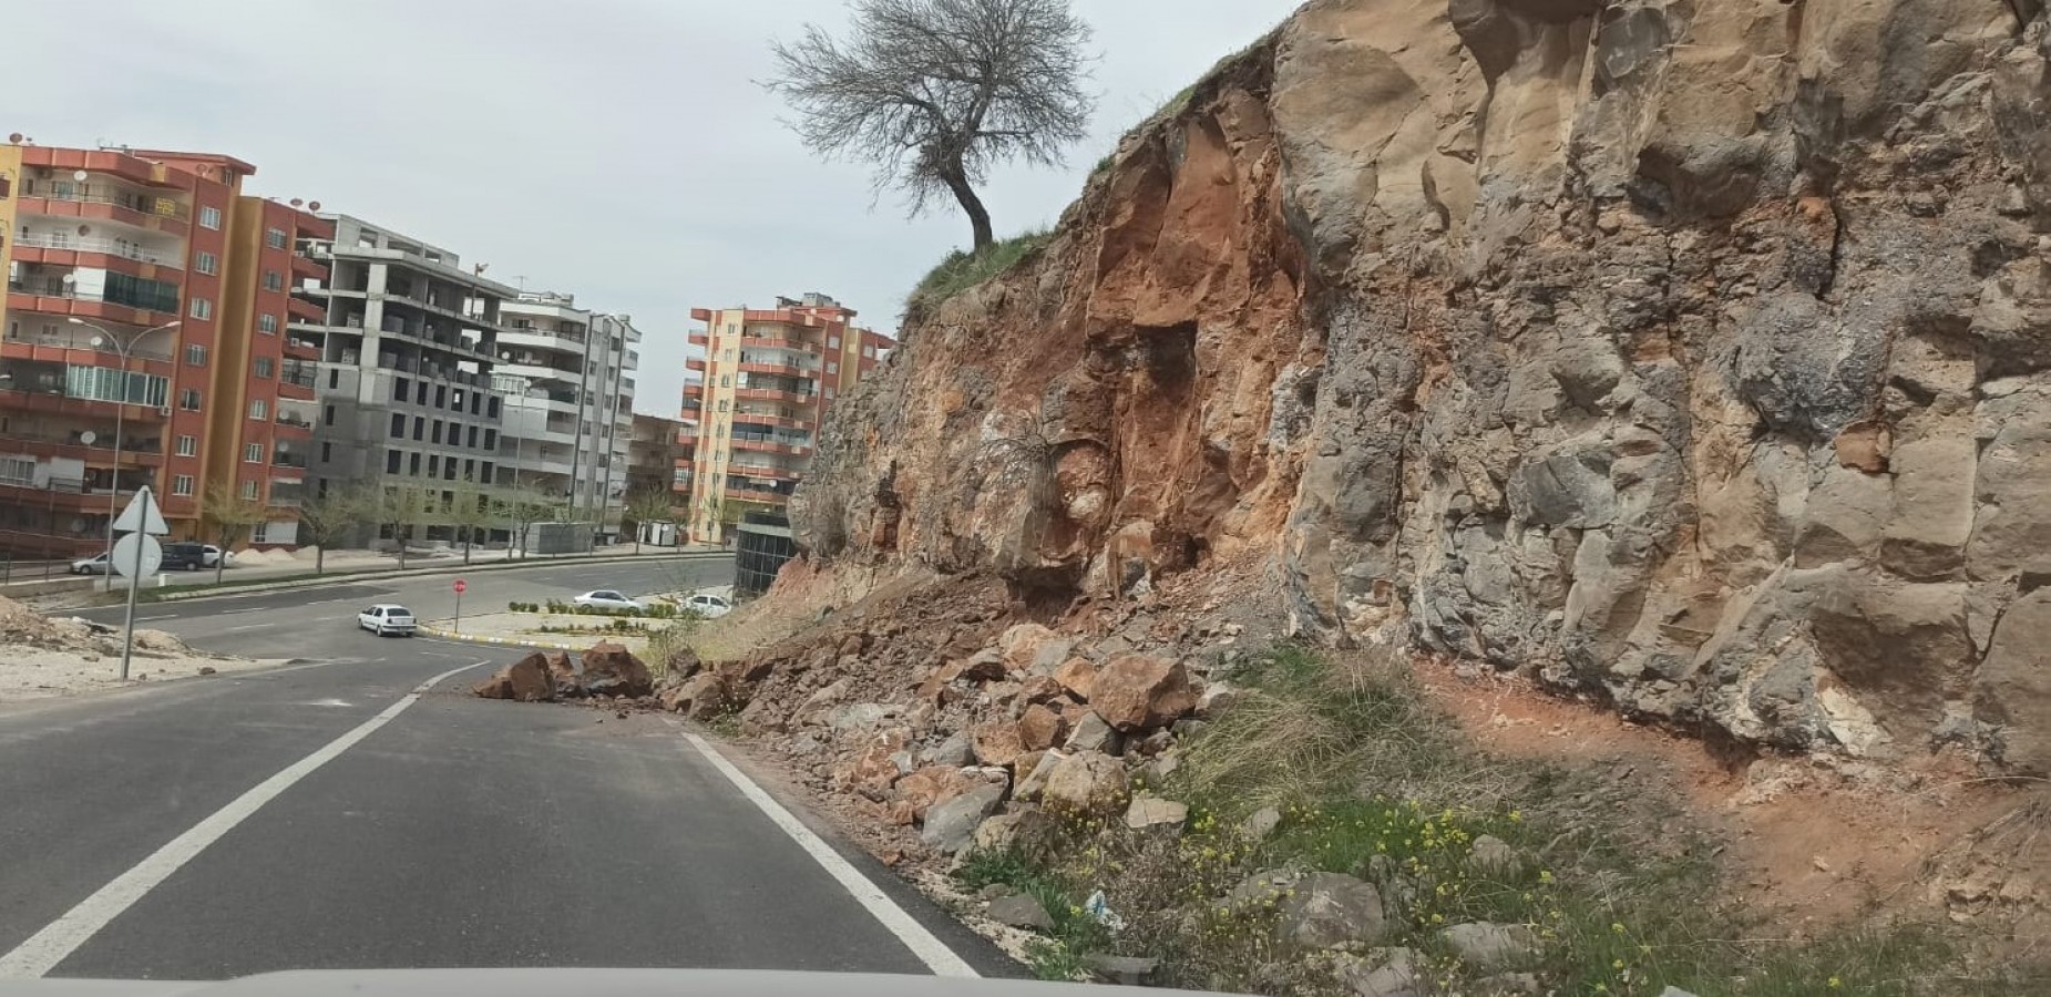
{"type": "MultiPolygon", "coordinates": [[[[318,351],[312,494],[357,484],[410,490],[418,540],[455,540],[451,509],[498,478],[502,402],[492,392],[500,308],[519,295],[455,252],[353,215],[295,252],[287,332],[318,351]],[[324,267],[324,271],[322,271],[324,267]]],[[[367,527],[392,540],[388,527],[367,527]]]]}

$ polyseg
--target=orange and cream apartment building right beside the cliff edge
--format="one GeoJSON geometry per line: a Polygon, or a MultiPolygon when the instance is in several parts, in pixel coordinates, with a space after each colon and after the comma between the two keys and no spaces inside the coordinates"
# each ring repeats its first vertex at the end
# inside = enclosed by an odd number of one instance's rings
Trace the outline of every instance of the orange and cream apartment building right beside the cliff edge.
{"type": "Polygon", "coordinates": [[[829,295],[771,310],[691,310],[701,359],[685,361],[683,418],[697,435],[677,457],[693,542],[722,542],[749,511],[781,511],[812,460],[837,396],[872,373],[890,336],[853,324],[829,295]]]}

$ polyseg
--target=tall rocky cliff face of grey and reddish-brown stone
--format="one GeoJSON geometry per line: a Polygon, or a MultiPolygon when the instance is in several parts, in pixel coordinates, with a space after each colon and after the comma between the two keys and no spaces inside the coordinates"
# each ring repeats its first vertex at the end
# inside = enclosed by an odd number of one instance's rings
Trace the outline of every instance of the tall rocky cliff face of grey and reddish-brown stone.
{"type": "Polygon", "coordinates": [[[2051,771],[2039,0],[1317,0],[911,316],[820,558],[2051,771]]]}

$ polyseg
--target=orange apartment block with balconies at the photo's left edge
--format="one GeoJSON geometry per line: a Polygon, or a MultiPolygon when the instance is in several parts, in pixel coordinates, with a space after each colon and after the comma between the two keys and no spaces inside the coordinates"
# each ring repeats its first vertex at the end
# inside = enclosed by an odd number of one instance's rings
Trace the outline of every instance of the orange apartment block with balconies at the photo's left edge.
{"type": "Polygon", "coordinates": [[[0,146],[0,550],[100,550],[144,484],[199,531],[230,297],[230,156],[0,146]]]}

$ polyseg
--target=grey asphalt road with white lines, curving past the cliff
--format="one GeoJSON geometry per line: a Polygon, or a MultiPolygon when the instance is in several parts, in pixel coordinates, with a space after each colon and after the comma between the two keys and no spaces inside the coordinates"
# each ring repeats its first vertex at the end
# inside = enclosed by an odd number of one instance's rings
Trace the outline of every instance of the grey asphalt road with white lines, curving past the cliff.
{"type": "MultiPolygon", "coordinates": [[[[539,566],[480,574],[466,603],[726,572],[539,566]]],[[[361,634],[369,601],[453,609],[447,579],[150,605],[199,646],[310,661],[0,708],[0,974],[1017,974],[790,800],[818,837],[786,831],[675,722],[470,697],[505,652],[361,634]]]]}

